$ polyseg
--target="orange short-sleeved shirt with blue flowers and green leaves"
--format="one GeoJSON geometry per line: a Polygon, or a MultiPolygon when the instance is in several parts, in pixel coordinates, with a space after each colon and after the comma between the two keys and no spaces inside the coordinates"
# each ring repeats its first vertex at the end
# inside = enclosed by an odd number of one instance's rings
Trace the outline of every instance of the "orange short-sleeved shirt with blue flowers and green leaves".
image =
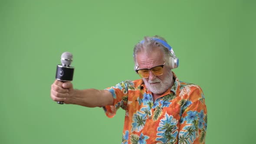
{"type": "Polygon", "coordinates": [[[125,110],[122,144],[204,144],[207,109],[198,85],[180,82],[153,101],[142,79],[124,81],[107,88],[114,105],[104,108],[112,118],[125,110]]]}

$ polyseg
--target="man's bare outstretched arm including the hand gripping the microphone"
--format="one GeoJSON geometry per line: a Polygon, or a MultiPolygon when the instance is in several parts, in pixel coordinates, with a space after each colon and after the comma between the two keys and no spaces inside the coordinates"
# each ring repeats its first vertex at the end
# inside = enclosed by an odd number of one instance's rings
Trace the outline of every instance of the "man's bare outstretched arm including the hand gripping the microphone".
{"type": "Polygon", "coordinates": [[[64,101],[65,104],[82,105],[85,107],[103,107],[113,105],[114,99],[108,90],[73,89],[71,82],[56,80],[51,88],[53,101],[64,101]]]}

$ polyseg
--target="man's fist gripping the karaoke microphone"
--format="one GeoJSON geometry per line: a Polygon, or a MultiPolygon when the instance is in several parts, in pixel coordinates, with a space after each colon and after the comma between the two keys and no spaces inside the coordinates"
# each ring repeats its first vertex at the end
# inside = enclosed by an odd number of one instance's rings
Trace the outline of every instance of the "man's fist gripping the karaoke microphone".
{"type": "Polygon", "coordinates": [[[51,88],[51,98],[53,101],[64,101],[69,104],[70,97],[74,95],[74,89],[71,82],[61,82],[55,80],[51,88]]]}

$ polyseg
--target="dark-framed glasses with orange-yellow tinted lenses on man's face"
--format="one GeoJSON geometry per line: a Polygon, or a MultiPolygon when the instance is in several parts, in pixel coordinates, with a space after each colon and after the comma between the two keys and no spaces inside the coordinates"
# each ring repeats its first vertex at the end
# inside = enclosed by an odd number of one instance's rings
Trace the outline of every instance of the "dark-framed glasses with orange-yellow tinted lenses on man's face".
{"type": "MultiPolygon", "coordinates": [[[[165,64],[165,62],[164,62],[165,64]]],[[[155,66],[151,69],[136,69],[135,71],[141,76],[141,78],[148,78],[149,77],[149,71],[151,71],[155,76],[163,75],[164,73],[164,64],[155,66]]]]}

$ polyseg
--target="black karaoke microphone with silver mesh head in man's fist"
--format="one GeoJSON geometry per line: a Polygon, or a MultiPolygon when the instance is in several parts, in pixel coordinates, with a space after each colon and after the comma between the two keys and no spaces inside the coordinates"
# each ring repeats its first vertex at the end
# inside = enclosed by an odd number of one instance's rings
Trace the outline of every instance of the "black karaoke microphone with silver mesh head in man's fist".
{"type": "MultiPolygon", "coordinates": [[[[62,82],[70,82],[73,80],[75,67],[70,66],[73,61],[73,55],[70,52],[64,52],[61,55],[61,65],[57,65],[55,79],[62,82]]],[[[58,104],[64,104],[64,101],[58,101],[58,104]]]]}

